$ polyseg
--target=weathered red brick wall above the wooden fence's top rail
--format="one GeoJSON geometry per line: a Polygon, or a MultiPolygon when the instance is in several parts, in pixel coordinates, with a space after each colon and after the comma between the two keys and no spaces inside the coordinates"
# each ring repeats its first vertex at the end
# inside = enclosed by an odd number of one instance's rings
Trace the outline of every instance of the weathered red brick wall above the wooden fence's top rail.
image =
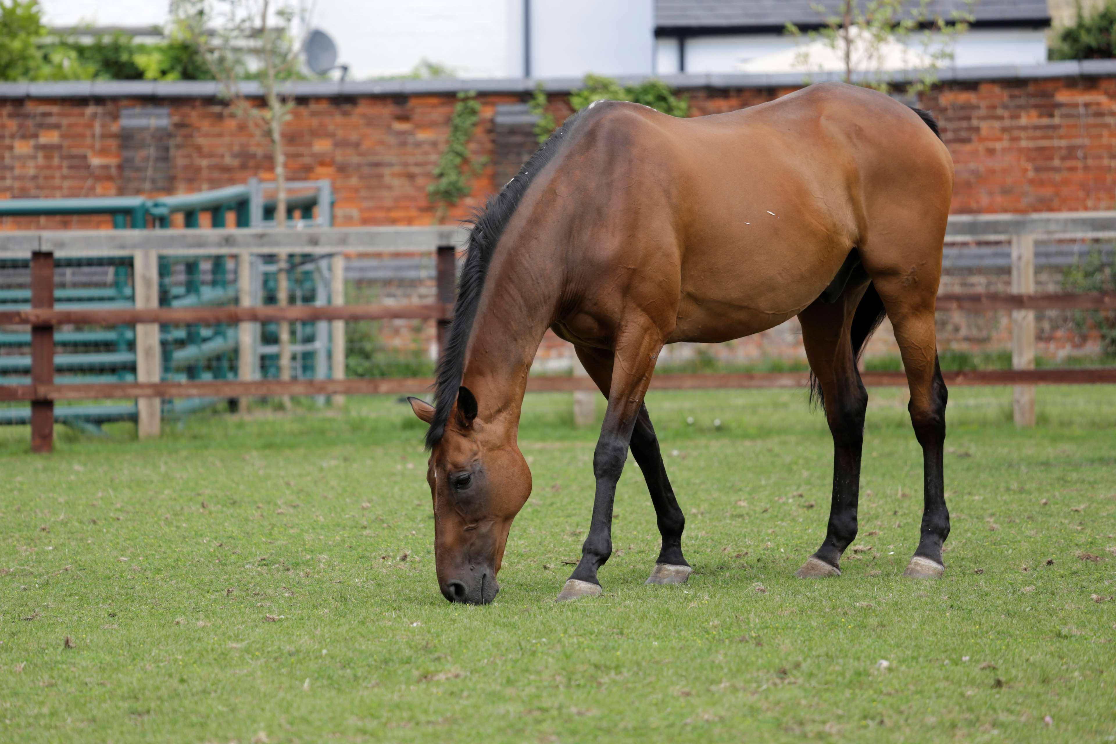
{"type": "MultiPolygon", "coordinates": [[[[791,90],[689,95],[693,114],[701,115],[791,90]]],[[[481,123],[470,148],[487,164],[473,194],[449,220],[466,215],[496,187],[496,106],[520,100],[516,94],[481,95],[481,123]]],[[[426,186],[454,103],[450,94],[302,100],[286,127],[289,175],[333,180],[338,225],[430,224],[434,207],[426,186]]],[[[171,109],[174,192],[271,176],[267,146],[211,98],[0,99],[0,199],[121,194],[119,110],[153,105],[171,109]]],[[[954,212],[1116,207],[1116,78],[950,83],[924,96],[922,105],[939,117],[956,163],[954,212]]],[[[551,108],[559,120],[569,114],[565,96],[555,96],[551,108]]],[[[71,218],[8,219],[2,226],[88,224],[71,218]]]]}

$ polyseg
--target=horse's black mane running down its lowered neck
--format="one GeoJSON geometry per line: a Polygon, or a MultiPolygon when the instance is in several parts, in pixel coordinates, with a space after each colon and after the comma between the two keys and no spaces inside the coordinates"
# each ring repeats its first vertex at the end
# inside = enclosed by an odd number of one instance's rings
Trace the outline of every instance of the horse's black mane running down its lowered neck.
{"type": "Polygon", "coordinates": [[[450,326],[449,338],[442,357],[437,363],[437,375],[434,381],[434,419],[426,429],[426,448],[433,447],[442,439],[445,424],[450,419],[450,410],[458,399],[458,388],[461,387],[461,375],[465,366],[465,348],[469,346],[469,334],[477,317],[477,306],[480,303],[481,290],[484,288],[484,277],[488,274],[492,253],[500,242],[500,235],[511,215],[519,206],[520,200],[531,185],[531,181],[547,163],[554,160],[561,148],[562,142],[580,118],[579,114],[566,119],[566,123],[535,151],[530,160],[523,164],[519,173],[509,181],[500,193],[491,196],[483,210],[478,210],[465,220],[473,226],[469,233],[469,250],[465,264],[461,269],[458,282],[458,300],[453,306],[453,323],[450,326]]]}

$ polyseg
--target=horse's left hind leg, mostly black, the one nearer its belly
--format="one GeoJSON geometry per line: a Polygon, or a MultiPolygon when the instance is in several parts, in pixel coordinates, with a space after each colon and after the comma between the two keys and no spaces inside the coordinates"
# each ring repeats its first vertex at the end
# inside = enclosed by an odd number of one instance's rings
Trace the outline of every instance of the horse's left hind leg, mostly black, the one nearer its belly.
{"type": "Polygon", "coordinates": [[[833,503],[826,539],[795,574],[800,579],[840,576],[840,557],[856,539],[860,451],[868,393],[856,368],[849,328],[864,284],[847,289],[833,305],[816,301],[799,316],[802,344],[817,377],[834,437],[833,503]]]}

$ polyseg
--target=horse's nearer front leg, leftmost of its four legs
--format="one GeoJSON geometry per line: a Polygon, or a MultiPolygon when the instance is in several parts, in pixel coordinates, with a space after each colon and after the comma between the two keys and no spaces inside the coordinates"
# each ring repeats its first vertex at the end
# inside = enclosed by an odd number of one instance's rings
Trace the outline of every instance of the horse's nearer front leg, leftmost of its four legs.
{"type": "Polygon", "coordinates": [[[624,461],[627,460],[632,432],[651,384],[655,359],[663,348],[663,335],[651,323],[633,323],[617,335],[615,346],[608,410],[593,455],[593,474],[597,481],[593,499],[593,521],[589,523],[589,534],[581,545],[581,560],[558,593],[560,602],[600,593],[597,570],[613,553],[613,501],[616,497],[616,482],[624,470],[624,461]]]}

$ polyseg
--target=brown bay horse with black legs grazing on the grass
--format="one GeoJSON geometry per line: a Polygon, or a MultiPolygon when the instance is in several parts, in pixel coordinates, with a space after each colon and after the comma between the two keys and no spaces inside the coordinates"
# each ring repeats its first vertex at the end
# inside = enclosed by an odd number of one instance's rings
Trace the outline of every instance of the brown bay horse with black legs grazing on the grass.
{"type": "Polygon", "coordinates": [[[487,603],[531,493],[520,406],[548,328],[608,398],[581,559],[559,600],[600,593],[628,448],[662,551],[648,583],[682,583],[685,520],[644,406],[665,344],[716,344],[798,316],[834,438],[833,506],[796,576],[840,574],[856,538],[867,393],[857,371],[886,315],[911,389],[925,506],[905,576],[942,576],[945,385],[934,301],[953,163],[925,112],[875,90],[814,85],[695,118],[598,102],[570,117],[473,220],[430,425],[426,481],[442,593],[487,603]]]}

